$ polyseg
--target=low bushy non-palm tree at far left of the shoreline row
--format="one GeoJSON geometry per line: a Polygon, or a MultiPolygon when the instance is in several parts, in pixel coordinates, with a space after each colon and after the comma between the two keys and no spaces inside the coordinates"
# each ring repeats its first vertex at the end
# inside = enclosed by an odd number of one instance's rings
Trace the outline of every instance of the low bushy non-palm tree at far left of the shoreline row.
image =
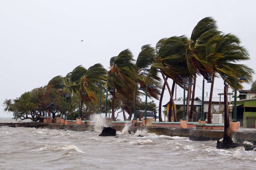
{"type": "Polygon", "coordinates": [[[61,96],[58,91],[44,86],[25,92],[14,100],[5,100],[4,111],[12,112],[16,120],[38,121],[40,116],[46,116],[47,112],[52,113],[52,116],[55,117],[55,114],[60,111],[60,107],[56,104],[60,100],[61,96]]]}

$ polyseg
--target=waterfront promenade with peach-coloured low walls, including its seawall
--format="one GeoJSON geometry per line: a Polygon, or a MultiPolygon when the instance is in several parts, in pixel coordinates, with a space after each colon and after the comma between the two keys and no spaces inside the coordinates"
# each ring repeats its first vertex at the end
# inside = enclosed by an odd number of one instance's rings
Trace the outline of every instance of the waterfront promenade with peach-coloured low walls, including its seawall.
{"type": "MultiPolygon", "coordinates": [[[[82,121],[81,124],[76,124],[76,121],[68,121],[65,125],[63,123],[0,123],[0,126],[7,125],[11,127],[35,127],[35,128],[50,128],[63,129],[72,131],[94,131],[95,122],[82,121]]],[[[207,126],[207,124],[201,124],[207,126]]],[[[180,128],[180,122],[153,122],[152,126],[144,126],[142,121],[137,124],[132,121],[111,121],[107,126],[113,127],[117,131],[122,131],[125,126],[130,131],[137,131],[138,129],[147,129],[149,133],[156,133],[157,135],[189,137],[191,141],[214,141],[223,138],[224,130],[204,130],[200,128],[197,122],[188,122],[188,128],[180,128]]],[[[208,124],[210,127],[223,127],[224,124],[208,124]]],[[[256,129],[239,128],[238,132],[232,132],[232,139],[234,142],[248,141],[256,145],[256,129]]]]}

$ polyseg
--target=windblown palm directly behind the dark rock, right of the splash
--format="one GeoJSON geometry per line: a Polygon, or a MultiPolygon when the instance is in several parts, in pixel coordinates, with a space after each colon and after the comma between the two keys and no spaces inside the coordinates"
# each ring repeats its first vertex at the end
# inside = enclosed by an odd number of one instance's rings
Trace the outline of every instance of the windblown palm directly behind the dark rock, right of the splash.
{"type": "Polygon", "coordinates": [[[112,95],[112,120],[115,120],[114,102],[116,91],[125,96],[129,101],[133,100],[133,92],[136,83],[134,82],[134,59],[129,49],[119,53],[118,56],[110,59],[110,70],[107,72],[106,88],[112,95]]]}

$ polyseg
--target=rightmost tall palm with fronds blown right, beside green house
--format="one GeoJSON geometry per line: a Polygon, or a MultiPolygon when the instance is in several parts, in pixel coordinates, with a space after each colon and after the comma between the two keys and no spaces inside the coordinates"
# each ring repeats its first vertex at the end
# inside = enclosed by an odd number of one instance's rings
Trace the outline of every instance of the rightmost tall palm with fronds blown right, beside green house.
{"type": "MultiPolygon", "coordinates": [[[[237,70],[244,71],[244,74],[248,77],[248,81],[252,80],[253,70],[248,66],[242,64],[236,64],[241,61],[249,60],[250,57],[246,49],[240,46],[240,40],[238,37],[232,34],[215,35],[212,37],[205,46],[206,57],[201,60],[202,63],[206,63],[209,67],[209,71],[212,71],[212,84],[210,91],[210,99],[212,98],[214,77],[220,75],[222,79],[233,86],[234,75],[237,70]]],[[[239,88],[238,84],[238,88],[239,88]]],[[[211,101],[211,100],[210,100],[211,101]]],[[[209,101],[208,107],[208,120],[211,120],[211,102],[209,101]]],[[[208,121],[211,123],[211,121],[208,121]]]]}

